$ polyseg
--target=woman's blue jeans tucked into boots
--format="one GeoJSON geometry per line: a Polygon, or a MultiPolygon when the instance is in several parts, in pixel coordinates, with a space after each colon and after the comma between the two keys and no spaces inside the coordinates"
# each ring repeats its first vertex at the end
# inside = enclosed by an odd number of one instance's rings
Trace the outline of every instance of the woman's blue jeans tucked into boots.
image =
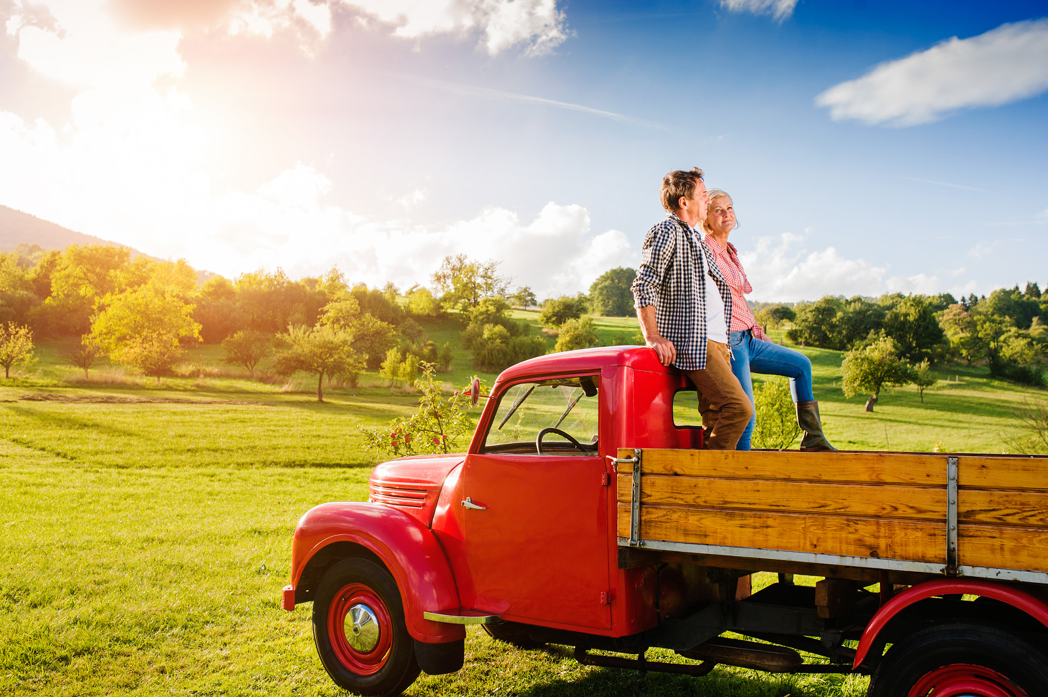
{"type": "MultiPolygon", "coordinates": [[[[789,378],[789,391],[794,402],[810,402],[815,399],[811,394],[811,361],[804,354],[754,338],[750,330],[728,334],[727,345],[732,350],[732,373],[739,379],[750,403],[754,401],[754,381],[749,376],[750,373],[789,378]]],[[[739,439],[736,450],[749,450],[749,439],[756,425],[755,409],[754,417],[739,439]]]]}

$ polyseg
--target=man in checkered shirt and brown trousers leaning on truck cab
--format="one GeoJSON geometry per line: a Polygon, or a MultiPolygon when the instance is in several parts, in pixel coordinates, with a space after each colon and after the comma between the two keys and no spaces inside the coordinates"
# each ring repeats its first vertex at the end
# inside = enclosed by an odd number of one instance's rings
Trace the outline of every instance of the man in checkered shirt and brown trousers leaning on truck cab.
{"type": "Polygon", "coordinates": [[[702,170],[662,178],[665,220],[645,235],[634,306],[645,342],[684,373],[704,398],[705,448],[735,450],[754,407],[732,374],[732,291],[696,228],[706,218],[702,170]]]}

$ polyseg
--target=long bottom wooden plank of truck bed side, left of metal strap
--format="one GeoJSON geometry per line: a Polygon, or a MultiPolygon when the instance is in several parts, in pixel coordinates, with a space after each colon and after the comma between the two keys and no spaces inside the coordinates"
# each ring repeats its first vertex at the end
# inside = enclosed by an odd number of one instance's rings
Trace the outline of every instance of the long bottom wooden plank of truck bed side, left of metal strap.
{"type": "MultiPolygon", "coordinates": [[[[946,526],[894,518],[749,513],[642,505],[640,537],[692,544],[809,552],[945,563],[946,526]]],[[[630,536],[630,504],[618,504],[619,537],[630,536]]]]}

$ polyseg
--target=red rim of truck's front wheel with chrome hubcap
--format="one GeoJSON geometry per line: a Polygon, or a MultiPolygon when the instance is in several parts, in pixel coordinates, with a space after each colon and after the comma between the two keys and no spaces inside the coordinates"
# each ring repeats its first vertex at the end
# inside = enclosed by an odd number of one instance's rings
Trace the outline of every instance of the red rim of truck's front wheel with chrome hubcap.
{"type": "MultiPolygon", "coordinates": [[[[355,627],[353,615],[350,615],[349,622],[355,627]]],[[[357,675],[374,675],[386,665],[393,645],[393,621],[386,609],[386,603],[364,584],[351,583],[344,586],[334,594],[328,609],[328,638],[335,657],[343,666],[357,675]],[[364,614],[362,607],[370,610],[368,620],[373,621],[378,630],[374,648],[365,650],[354,648],[353,642],[357,637],[352,630],[349,636],[346,634],[347,615],[354,609],[356,614],[364,614]]]]}

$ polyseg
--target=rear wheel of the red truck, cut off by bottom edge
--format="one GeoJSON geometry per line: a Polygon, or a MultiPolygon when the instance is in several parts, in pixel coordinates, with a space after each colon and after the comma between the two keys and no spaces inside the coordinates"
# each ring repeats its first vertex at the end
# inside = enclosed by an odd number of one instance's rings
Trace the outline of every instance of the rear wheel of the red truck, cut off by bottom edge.
{"type": "Polygon", "coordinates": [[[1048,656],[1034,645],[1005,627],[951,620],[920,629],[889,649],[867,697],[1044,697],[1046,691],[1048,656]],[[949,684],[966,687],[957,692],[949,684]]]}

